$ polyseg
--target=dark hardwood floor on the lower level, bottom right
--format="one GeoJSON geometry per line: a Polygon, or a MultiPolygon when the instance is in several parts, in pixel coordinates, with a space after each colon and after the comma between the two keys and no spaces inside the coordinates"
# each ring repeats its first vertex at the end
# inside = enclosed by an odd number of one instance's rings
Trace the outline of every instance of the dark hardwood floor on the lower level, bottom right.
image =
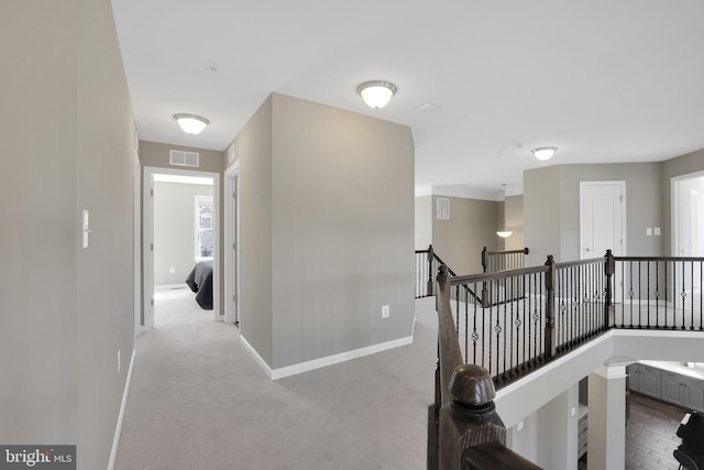
{"type": "Polygon", "coordinates": [[[686,411],[667,403],[630,394],[626,425],[626,469],[676,470],[672,451],[682,440],[676,436],[686,411]]]}

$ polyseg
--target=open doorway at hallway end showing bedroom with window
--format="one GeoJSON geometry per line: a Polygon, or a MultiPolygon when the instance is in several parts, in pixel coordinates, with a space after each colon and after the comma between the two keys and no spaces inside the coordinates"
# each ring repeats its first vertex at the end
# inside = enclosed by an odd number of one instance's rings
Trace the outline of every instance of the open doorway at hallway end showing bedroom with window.
{"type": "MultiPolygon", "coordinates": [[[[173,168],[144,168],[144,321],[155,326],[157,296],[180,291],[188,302],[220,315],[219,175],[173,168]],[[197,276],[199,292],[188,292],[197,276]]],[[[158,325],[156,325],[158,326],[158,325]]]]}

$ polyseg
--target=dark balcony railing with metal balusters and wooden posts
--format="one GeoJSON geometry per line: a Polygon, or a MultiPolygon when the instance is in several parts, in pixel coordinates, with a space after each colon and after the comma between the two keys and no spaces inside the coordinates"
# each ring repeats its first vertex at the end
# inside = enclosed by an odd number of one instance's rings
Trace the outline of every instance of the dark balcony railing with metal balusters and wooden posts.
{"type": "Polygon", "coordinates": [[[504,447],[490,403],[494,387],[612,328],[704,331],[704,258],[615,258],[609,250],[592,260],[548,256],[541,266],[464,276],[440,265],[439,273],[432,469],[537,468],[504,447]],[[493,387],[479,393],[472,387],[483,375],[493,387]]]}

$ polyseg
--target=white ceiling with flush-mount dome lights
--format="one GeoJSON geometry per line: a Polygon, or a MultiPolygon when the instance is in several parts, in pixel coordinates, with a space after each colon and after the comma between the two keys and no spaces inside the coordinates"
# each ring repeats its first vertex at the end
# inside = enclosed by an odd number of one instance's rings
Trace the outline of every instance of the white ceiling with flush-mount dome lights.
{"type": "Polygon", "coordinates": [[[272,92],[407,124],[416,185],[704,147],[700,0],[112,0],[140,139],[222,151],[272,92]],[[217,72],[210,69],[211,66],[217,72]],[[356,86],[393,81],[381,110],[356,86]],[[432,102],[437,109],[420,111],[432,102]],[[183,133],[172,116],[211,124],[183,133]],[[522,145],[522,146],[521,146],[522,145]],[[559,147],[538,162],[530,149],[559,147]]]}

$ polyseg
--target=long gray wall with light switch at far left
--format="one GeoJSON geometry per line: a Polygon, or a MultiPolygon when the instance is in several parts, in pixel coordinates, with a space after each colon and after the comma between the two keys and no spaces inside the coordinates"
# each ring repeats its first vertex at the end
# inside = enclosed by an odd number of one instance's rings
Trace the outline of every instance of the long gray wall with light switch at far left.
{"type": "Polygon", "coordinates": [[[4,10],[0,441],[76,444],[79,469],[106,468],[134,348],[135,134],[112,12],[4,10]]]}

